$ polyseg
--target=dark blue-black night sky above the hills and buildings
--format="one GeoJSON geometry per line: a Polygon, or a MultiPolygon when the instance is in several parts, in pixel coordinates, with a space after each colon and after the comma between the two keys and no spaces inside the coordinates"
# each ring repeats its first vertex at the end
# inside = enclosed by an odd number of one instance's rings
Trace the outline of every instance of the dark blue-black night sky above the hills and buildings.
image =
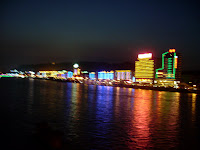
{"type": "Polygon", "coordinates": [[[131,61],[169,48],[200,69],[197,1],[42,0],[0,2],[0,64],[131,61]]]}

